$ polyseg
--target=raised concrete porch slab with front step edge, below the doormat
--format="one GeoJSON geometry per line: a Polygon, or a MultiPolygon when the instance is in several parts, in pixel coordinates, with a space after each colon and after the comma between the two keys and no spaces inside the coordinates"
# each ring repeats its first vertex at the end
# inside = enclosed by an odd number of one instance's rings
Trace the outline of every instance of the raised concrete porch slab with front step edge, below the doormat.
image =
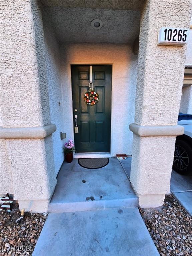
{"type": "Polygon", "coordinates": [[[65,163],[48,212],[62,213],[138,206],[131,183],[117,158],[100,169],[85,169],[77,159],[65,163]]]}

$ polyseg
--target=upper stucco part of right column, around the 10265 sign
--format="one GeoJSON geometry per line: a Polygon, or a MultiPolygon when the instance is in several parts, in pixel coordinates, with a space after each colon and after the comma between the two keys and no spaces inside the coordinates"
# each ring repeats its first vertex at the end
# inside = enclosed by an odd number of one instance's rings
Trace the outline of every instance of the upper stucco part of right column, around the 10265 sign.
{"type": "Polygon", "coordinates": [[[152,0],[146,5],[141,15],[135,123],[176,124],[187,46],[158,46],[157,36],[161,26],[189,27],[191,1],[152,0]]]}

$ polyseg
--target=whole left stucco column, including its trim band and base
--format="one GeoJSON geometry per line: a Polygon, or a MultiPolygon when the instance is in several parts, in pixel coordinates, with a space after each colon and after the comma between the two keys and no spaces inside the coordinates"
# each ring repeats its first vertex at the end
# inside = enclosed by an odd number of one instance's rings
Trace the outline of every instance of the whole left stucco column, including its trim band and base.
{"type": "Polygon", "coordinates": [[[13,192],[20,209],[46,212],[56,185],[56,127],[50,124],[41,11],[36,1],[3,1],[1,14],[1,171],[12,176],[4,193],[13,192]]]}

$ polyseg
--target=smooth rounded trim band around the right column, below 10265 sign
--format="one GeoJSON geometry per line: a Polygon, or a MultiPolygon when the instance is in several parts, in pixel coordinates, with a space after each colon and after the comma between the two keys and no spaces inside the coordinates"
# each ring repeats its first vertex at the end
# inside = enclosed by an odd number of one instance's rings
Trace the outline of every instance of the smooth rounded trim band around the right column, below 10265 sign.
{"type": "Polygon", "coordinates": [[[129,125],[130,131],[141,136],[177,136],[183,135],[184,127],[181,125],[138,125],[132,123],[129,125]]]}

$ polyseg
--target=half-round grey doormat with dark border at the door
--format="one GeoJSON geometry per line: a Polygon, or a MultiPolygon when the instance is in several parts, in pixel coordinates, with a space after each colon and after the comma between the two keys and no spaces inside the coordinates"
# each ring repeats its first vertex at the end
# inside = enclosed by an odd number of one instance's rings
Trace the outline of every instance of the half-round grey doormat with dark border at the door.
{"type": "Polygon", "coordinates": [[[109,163],[109,158],[79,158],[78,164],[87,169],[99,169],[109,163]]]}

